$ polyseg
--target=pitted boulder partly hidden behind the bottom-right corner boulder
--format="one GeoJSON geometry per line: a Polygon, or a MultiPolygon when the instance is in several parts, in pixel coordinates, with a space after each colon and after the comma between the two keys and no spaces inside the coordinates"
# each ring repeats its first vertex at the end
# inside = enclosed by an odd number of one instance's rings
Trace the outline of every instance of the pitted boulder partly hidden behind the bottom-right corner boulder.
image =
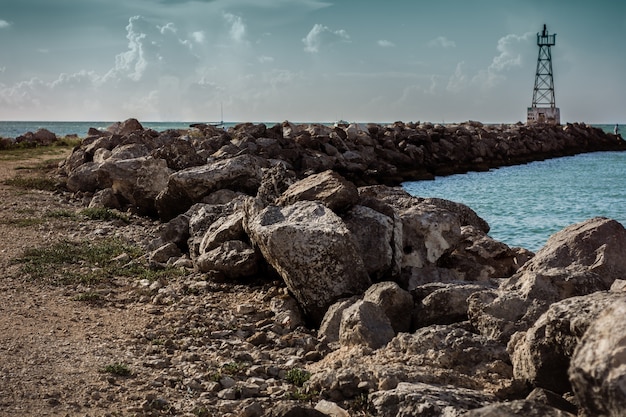
{"type": "Polygon", "coordinates": [[[515,377],[556,393],[571,391],[567,368],[574,349],[598,314],[618,299],[626,301],[626,295],[597,292],[552,304],[528,331],[511,338],[515,377]]]}

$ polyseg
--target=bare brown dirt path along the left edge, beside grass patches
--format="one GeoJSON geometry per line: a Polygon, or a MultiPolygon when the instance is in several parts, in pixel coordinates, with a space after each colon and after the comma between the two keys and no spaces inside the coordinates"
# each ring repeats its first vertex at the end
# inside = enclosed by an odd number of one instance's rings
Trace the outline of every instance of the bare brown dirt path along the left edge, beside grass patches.
{"type": "Polygon", "coordinates": [[[37,175],[24,167],[46,158],[0,160],[0,416],[105,415],[123,393],[101,369],[123,361],[146,315],[132,305],[77,302],[66,288],[25,279],[13,263],[84,227],[49,216],[76,210],[62,195],[4,183],[37,175]]]}

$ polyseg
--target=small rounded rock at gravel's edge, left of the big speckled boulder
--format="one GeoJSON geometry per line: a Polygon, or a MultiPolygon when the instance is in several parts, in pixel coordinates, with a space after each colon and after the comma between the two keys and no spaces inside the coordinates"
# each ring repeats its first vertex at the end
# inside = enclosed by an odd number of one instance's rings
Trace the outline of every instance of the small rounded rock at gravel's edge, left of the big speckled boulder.
{"type": "Polygon", "coordinates": [[[228,278],[242,278],[256,274],[256,252],[240,240],[229,240],[200,255],[195,266],[201,272],[219,271],[228,278]]]}

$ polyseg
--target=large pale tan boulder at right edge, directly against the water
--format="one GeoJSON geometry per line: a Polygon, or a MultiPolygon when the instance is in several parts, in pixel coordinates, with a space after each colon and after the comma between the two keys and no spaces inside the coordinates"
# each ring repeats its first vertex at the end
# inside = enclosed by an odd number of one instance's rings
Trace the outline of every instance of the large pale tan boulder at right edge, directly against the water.
{"type": "Polygon", "coordinates": [[[615,220],[589,219],[555,233],[506,284],[524,298],[555,302],[608,290],[626,276],[626,229],[615,220]]]}

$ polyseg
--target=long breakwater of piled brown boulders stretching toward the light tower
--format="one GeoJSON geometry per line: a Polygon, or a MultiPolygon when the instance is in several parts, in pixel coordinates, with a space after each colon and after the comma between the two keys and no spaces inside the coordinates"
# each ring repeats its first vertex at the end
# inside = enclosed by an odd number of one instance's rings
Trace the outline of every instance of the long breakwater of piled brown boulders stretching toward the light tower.
{"type": "MultiPolygon", "coordinates": [[[[620,415],[626,342],[604,326],[626,326],[624,227],[595,218],[555,234],[537,254],[508,247],[462,204],[363,185],[402,178],[411,165],[381,157],[373,137],[391,132],[380,149],[392,152],[396,133],[418,127],[368,129],[285,123],[157,133],[133,121],[85,139],[61,168],[85,204],[161,218],[149,248],[154,268],[186,267],[226,285],[283,283],[273,324],[237,334],[261,358],[275,356],[257,352],[272,340],[303,325],[315,330],[291,363],[310,373],[304,390],[317,410],[258,389],[255,409],[239,415],[350,415],[355,404],[380,416],[620,415]],[[380,157],[368,160],[380,170],[357,157],[364,149],[380,157]]],[[[543,134],[575,129],[587,150],[618,146],[581,126],[543,134]]],[[[429,143],[442,140],[431,134],[429,143]]],[[[271,379],[255,378],[262,386],[271,379]]],[[[249,405],[233,388],[246,381],[227,382],[215,401],[249,405]]]]}

